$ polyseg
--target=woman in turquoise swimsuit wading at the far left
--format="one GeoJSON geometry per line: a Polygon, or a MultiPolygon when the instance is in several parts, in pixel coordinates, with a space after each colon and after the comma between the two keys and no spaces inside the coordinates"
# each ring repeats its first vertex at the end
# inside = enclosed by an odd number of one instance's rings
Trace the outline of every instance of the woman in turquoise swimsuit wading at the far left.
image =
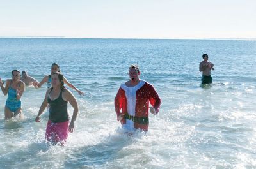
{"type": "Polygon", "coordinates": [[[12,79],[6,80],[5,87],[4,82],[0,78],[0,86],[4,96],[8,94],[4,108],[5,119],[22,114],[20,98],[25,90],[25,84],[20,80],[20,71],[12,71],[12,79]]]}

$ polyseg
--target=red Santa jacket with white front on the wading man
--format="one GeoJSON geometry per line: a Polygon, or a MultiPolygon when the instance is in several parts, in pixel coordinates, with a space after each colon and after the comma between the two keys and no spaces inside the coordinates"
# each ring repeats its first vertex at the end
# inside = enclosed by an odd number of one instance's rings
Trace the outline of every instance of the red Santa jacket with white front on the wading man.
{"type": "MultiPolygon", "coordinates": [[[[134,87],[121,85],[115,97],[115,111],[117,117],[121,114],[129,114],[135,117],[148,117],[149,103],[159,112],[161,99],[151,84],[140,80],[139,84],[134,87]]],[[[125,124],[126,119],[121,120],[125,124]]],[[[143,131],[148,130],[148,124],[138,124],[134,122],[134,128],[140,128],[143,131]]]]}

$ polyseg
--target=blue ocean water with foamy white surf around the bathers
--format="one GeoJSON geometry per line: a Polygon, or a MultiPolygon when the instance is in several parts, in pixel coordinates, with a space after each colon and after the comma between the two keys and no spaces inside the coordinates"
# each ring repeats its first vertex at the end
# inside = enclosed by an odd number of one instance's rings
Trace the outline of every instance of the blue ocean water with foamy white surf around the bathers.
{"type": "MultiPolygon", "coordinates": [[[[35,122],[46,85],[26,87],[24,118],[4,121],[0,94],[0,168],[256,168],[256,42],[0,38],[0,77],[15,68],[42,80],[60,64],[79,96],[76,131],[65,147],[44,141],[47,115],[35,122]],[[200,86],[202,54],[213,84],[200,86]],[[138,64],[162,104],[148,133],[125,135],[114,98],[138,64]]],[[[68,110],[72,115],[72,107],[68,110]]]]}

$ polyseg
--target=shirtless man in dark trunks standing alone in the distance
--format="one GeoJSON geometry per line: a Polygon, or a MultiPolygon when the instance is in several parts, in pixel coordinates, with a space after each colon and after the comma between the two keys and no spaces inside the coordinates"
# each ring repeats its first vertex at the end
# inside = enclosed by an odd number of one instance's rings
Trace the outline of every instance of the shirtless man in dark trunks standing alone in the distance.
{"type": "Polygon", "coordinates": [[[202,71],[202,84],[211,84],[212,83],[212,77],[211,77],[211,70],[214,70],[211,62],[208,61],[208,55],[203,54],[202,55],[204,61],[200,62],[199,64],[199,71],[202,71]]]}

